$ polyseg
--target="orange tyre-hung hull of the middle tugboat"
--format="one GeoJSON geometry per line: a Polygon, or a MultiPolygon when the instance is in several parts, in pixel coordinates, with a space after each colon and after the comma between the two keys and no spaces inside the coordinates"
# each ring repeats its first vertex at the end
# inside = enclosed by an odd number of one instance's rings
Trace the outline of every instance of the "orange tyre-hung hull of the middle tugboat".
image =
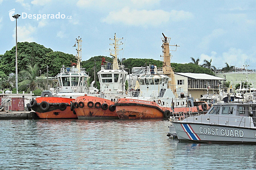
{"type": "Polygon", "coordinates": [[[94,96],[80,96],[76,98],[75,102],[79,104],[78,108],[74,108],[78,119],[119,119],[116,110],[110,110],[110,107],[115,108],[114,102],[111,100],[94,96]]]}

